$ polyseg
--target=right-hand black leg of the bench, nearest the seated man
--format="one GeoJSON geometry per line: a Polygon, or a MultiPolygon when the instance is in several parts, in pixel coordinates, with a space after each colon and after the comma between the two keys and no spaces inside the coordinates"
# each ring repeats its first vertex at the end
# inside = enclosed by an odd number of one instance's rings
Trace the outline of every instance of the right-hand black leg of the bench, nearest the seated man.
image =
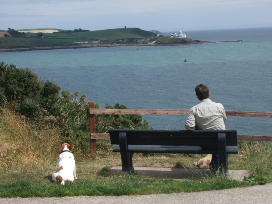
{"type": "Polygon", "coordinates": [[[226,148],[226,135],[225,133],[218,134],[218,148],[219,148],[219,164],[220,164],[220,173],[222,171],[228,173],[228,155],[226,148]]]}

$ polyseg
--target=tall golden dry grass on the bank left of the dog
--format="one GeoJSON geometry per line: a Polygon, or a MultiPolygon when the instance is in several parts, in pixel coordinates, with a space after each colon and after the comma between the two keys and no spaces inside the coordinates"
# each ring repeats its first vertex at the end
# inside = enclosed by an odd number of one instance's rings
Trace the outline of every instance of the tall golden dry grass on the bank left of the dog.
{"type": "Polygon", "coordinates": [[[24,170],[52,164],[58,157],[59,133],[55,128],[34,131],[23,116],[0,110],[1,170],[24,170]]]}

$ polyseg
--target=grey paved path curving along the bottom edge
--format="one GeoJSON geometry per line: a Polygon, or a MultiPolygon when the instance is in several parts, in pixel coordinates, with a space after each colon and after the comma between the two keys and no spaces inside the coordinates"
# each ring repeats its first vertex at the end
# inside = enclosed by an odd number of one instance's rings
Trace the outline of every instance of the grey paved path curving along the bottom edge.
{"type": "Polygon", "coordinates": [[[272,203],[272,183],[245,188],[202,191],[194,193],[153,194],[145,196],[92,196],[92,197],[62,197],[62,198],[0,198],[1,204],[6,203],[118,203],[118,204],[181,204],[181,203],[232,203],[232,204],[262,204],[272,203]]]}

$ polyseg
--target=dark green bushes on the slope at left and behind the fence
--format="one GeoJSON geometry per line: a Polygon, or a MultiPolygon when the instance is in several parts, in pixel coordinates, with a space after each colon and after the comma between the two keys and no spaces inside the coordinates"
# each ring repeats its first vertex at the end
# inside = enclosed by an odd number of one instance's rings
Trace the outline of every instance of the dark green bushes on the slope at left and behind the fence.
{"type": "MultiPolygon", "coordinates": [[[[71,94],[51,81],[42,81],[29,69],[0,63],[0,105],[28,118],[35,128],[56,127],[60,140],[89,149],[89,101],[86,94],[71,94]]],[[[99,104],[96,104],[99,108],[99,104]]],[[[127,108],[106,105],[106,108],[127,108]]],[[[98,115],[96,132],[109,128],[149,129],[141,115],[98,115]]],[[[102,148],[104,148],[102,146],[102,148]]]]}

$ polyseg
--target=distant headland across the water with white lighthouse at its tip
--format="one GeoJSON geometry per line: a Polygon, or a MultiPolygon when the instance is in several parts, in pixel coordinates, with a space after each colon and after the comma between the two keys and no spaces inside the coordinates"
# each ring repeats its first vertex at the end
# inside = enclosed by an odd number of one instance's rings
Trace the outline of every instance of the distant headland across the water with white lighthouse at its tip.
{"type": "MultiPolygon", "coordinates": [[[[241,42],[242,40],[238,40],[241,42]]],[[[237,41],[237,42],[238,42],[237,41]]],[[[213,43],[193,40],[180,31],[163,36],[160,31],[144,31],[140,28],[116,28],[99,31],[60,29],[18,30],[9,28],[0,31],[0,52],[29,50],[76,49],[88,47],[119,46],[173,46],[213,43]]]]}

